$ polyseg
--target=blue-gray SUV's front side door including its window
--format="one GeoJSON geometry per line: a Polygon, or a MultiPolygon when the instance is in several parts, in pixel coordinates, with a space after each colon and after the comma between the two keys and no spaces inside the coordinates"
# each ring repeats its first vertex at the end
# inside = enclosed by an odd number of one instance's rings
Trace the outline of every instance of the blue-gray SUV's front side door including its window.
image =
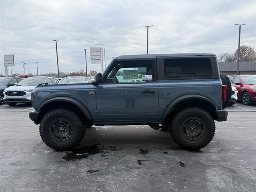
{"type": "Polygon", "coordinates": [[[158,82],[154,61],[116,61],[112,66],[102,84],[96,86],[99,120],[156,120],[158,82]]]}

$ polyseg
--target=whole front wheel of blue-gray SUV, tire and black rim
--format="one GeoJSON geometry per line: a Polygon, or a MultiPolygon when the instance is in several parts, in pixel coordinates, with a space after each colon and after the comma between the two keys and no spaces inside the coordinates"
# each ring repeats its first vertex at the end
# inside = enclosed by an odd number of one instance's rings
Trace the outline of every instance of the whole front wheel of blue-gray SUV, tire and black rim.
{"type": "Polygon", "coordinates": [[[84,138],[82,120],[71,110],[57,108],[47,112],[40,122],[40,136],[44,143],[56,150],[68,150],[84,138]]]}

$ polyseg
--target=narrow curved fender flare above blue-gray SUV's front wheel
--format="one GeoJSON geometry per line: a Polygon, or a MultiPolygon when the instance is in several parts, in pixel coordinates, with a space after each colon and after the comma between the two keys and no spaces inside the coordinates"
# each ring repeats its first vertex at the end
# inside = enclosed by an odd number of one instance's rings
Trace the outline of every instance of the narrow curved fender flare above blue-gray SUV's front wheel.
{"type": "Polygon", "coordinates": [[[80,101],[70,98],[70,97],[54,97],[51,98],[45,102],[43,102],[40,107],[38,108],[38,110],[40,111],[46,104],[50,103],[50,102],[54,102],[54,101],[65,101],[65,102],[69,102],[73,105],[75,105],[76,107],[78,107],[84,114],[84,116],[86,116],[86,118],[88,118],[88,120],[92,121],[92,116],[90,114],[90,112],[88,111],[88,109],[86,108],[86,106],[84,106],[84,104],[82,104],[80,101]]]}

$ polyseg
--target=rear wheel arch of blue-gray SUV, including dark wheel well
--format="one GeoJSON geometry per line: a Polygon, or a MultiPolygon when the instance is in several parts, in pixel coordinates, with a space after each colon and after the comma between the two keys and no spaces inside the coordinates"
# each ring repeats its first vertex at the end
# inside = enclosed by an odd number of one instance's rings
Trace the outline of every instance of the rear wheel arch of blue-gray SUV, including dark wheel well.
{"type": "Polygon", "coordinates": [[[218,109],[216,104],[212,102],[210,99],[206,98],[205,96],[190,94],[180,96],[174,99],[170,104],[166,107],[162,119],[167,120],[175,114],[176,112],[180,111],[183,108],[187,107],[201,107],[206,109],[213,118],[216,118],[216,110],[218,109]]]}

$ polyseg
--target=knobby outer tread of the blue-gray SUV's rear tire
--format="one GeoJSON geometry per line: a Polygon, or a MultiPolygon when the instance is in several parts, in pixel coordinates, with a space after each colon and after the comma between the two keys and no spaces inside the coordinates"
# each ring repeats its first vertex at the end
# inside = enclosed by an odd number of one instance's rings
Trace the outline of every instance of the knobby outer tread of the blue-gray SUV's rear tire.
{"type": "Polygon", "coordinates": [[[200,148],[205,147],[206,145],[208,145],[211,142],[211,140],[212,140],[212,138],[214,137],[214,134],[215,134],[215,123],[214,123],[214,119],[212,118],[211,114],[208,111],[206,111],[202,108],[199,108],[199,107],[185,108],[183,110],[180,110],[180,112],[178,112],[178,114],[176,114],[176,116],[174,116],[174,118],[173,118],[173,120],[170,124],[169,132],[170,132],[170,135],[172,136],[172,139],[179,146],[181,146],[183,148],[186,148],[188,150],[198,150],[200,148]],[[189,113],[189,112],[194,112],[195,110],[198,110],[200,112],[204,112],[204,114],[210,119],[210,123],[211,123],[213,129],[212,129],[211,137],[208,139],[207,142],[205,142],[204,144],[202,144],[200,146],[192,147],[192,146],[186,145],[182,140],[180,140],[178,137],[176,137],[175,130],[173,129],[173,124],[174,124],[174,122],[178,121],[178,118],[180,116],[183,116],[184,114],[189,113]]]}

